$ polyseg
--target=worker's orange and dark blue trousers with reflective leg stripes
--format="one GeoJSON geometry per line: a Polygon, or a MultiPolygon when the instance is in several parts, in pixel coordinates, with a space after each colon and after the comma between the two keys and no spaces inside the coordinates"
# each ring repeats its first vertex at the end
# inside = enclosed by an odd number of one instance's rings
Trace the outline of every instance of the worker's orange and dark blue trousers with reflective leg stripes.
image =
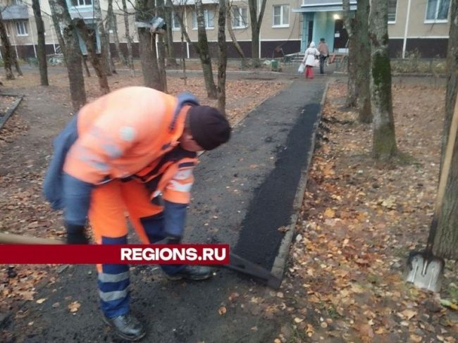
{"type": "MultiPolygon", "coordinates": [[[[113,180],[95,187],[89,208],[89,222],[97,244],[127,244],[126,216],[143,244],[163,239],[163,207],[151,204],[149,191],[137,180],[113,180]]],[[[184,266],[161,266],[168,274],[184,266]]],[[[108,318],[130,311],[129,266],[97,265],[101,310],[108,318]]]]}

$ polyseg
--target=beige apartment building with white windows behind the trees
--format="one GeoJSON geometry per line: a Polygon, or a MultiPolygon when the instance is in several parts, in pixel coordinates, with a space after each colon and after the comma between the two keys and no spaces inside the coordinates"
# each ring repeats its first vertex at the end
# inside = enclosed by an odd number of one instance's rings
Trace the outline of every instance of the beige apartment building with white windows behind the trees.
{"type": "MultiPolygon", "coordinates": [[[[108,2],[101,1],[106,15],[108,2]]],[[[85,18],[89,28],[95,30],[92,0],[67,0],[70,15],[85,18]]],[[[132,1],[133,2],[133,1],[132,1]]],[[[218,1],[203,0],[206,32],[211,54],[216,56],[218,37],[218,1]]],[[[261,2],[261,0],[259,0],[261,2]]],[[[11,44],[20,58],[36,56],[37,32],[31,0],[3,0],[2,17],[6,23],[11,44]]],[[[47,54],[59,52],[56,32],[51,20],[47,0],[40,0],[46,30],[47,54]]],[[[173,11],[182,16],[190,39],[197,41],[197,15],[194,0],[173,0],[173,11]]],[[[251,56],[251,29],[247,1],[230,1],[232,24],[237,42],[245,55],[251,56]]],[[[388,0],[388,33],[390,35],[390,54],[404,57],[419,51],[423,57],[445,57],[450,29],[450,0],[388,0]]],[[[260,5],[260,4],[259,4],[260,5]]],[[[121,49],[126,49],[123,12],[120,0],[113,0],[116,25],[121,49]]],[[[260,6],[258,6],[259,11],[260,6]]],[[[351,11],[357,11],[357,1],[350,1],[351,11]]],[[[138,37],[135,27],[135,10],[128,1],[130,34],[134,42],[134,54],[138,56],[138,37]]],[[[338,0],[267,0],[264,18],[261,23],[259,51],[261,58],[283,56],[304,51],[309,42],[325,38],[330,51],[345,52],[347,30],[342,18],[342,1],[338,0]]],[[[173,18],[173,44],[175,56],[184,51],[186,58],[197,54],[190,44],[181,44],[180,23],[173,18]]],[[[96,30],[97,31],[97,30],[96,30]]],[[[100,46],[99,35],[97,46],[100,46]]],[[[237,52],[227,34],[228,56],[235,58],[237,52]]],[[[111,39],[113,42],[113,39],[111,39]]],[[[83,53],[85,45],[80,40],[83,53]]],[[[113,44],[112,44],[113,45],[113,44]]],[[[113,46],[112,46],[113,49],[113,46]]],[[[114,51],[114,49],[113,49],[114,51]]]]}

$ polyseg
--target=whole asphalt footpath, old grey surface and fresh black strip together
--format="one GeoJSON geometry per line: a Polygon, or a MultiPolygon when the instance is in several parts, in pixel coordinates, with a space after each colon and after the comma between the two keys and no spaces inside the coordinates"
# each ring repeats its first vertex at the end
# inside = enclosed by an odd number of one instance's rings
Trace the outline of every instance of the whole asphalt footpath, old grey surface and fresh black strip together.
{"type": "MultiPolygon", "coordinates": [[[[240,256],[272,267],[283,239],[278,228],[291,224],[308,168],[325,82],[295,80],[249,113],[229,144],[201,156],[185,242],[228,243],[240,256]]],[[[27,304],[25,318],[13,313],[5,329],[23,342],[120,342],[101,321],[96,278],[93,266],[69,266],[35,297],[46,301],[27,304]],[[76,313],[68,311],[72,301],[81,304],[76,313]]],[[[137,266],[131,287],[132,311],[147,326],[143,342],[273,342],[280,330],[280,320],[230,306],[231,293],[262,294],[264,286],[229,270],[204,282],[171,282],[157,266],[137,266]]]]}

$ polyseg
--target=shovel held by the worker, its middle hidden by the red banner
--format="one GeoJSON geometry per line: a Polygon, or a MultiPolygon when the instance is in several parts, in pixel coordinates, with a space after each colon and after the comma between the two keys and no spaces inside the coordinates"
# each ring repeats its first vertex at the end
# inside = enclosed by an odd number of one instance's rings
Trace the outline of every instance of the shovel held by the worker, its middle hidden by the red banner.
{"type": "MultiPolygon", "coordinates": [[[[58,239],[11,235],[0,232],[0,244],[64,244],[64,242],[58,239]]],[[[223,267],[252,276],[261,284],[267,285],[273,289],[280,288],[281,279],[272,275],[267,269],[233,253],[230,253],[229,259],[230,263],[223,267]]]]}

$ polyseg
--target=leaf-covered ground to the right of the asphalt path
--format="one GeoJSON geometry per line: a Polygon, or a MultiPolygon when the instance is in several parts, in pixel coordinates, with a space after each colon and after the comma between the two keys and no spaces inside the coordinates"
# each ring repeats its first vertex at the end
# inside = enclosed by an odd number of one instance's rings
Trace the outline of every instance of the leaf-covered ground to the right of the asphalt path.
{"type": "Polygon", "coordinates": [[[328,89],[281,292],[257,306],[286,316],[276,343],[458,342],[458,263],[440,294],[402,280],[433,215],[445,89],[393,87],[402,154],[390,166],[373,162],[371,126],[342,108],[345,91],[328,89]]]}

